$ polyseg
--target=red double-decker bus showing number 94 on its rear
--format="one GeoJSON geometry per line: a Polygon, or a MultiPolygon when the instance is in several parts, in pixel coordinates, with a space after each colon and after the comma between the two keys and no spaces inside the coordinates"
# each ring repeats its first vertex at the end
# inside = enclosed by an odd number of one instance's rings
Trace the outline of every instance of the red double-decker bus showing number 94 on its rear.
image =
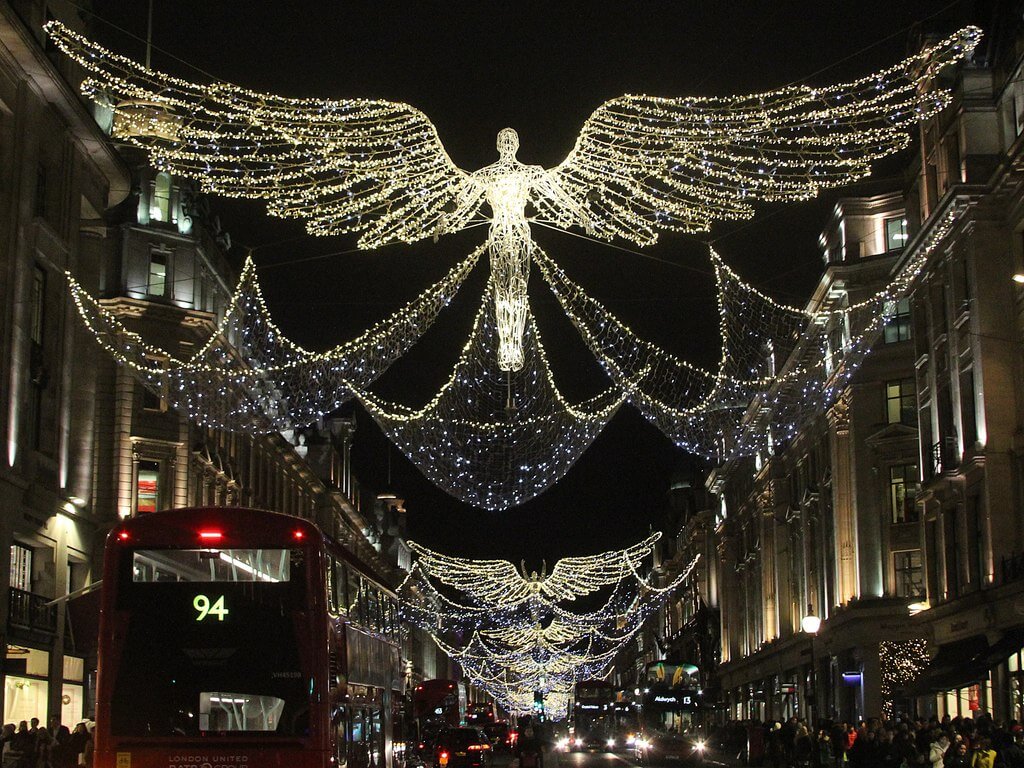
{"type": "Polygon", "coordinates": [[[392,765],[395,596],[308,520],[125,520],[99,634],[96,768],[392,765]]]}

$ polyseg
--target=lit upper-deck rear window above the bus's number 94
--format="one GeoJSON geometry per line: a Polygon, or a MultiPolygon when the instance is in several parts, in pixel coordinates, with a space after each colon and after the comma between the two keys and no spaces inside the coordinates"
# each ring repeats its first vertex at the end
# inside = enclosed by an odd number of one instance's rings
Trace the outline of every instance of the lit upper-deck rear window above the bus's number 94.
{"type": "Polygon", "coordinates": [[[287,549],[135,550],[132,582],[287,582],[287,549]]]}

